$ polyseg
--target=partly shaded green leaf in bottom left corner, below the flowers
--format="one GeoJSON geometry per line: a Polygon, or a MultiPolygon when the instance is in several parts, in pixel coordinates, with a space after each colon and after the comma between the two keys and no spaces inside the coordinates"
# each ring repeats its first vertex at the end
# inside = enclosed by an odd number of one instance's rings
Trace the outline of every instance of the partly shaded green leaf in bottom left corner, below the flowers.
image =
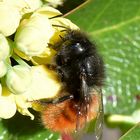
{"type": "Polygon", "coordinates": [[[39,116],[36,120],[17,113],[13,118],[0,120],[0,140],[58,140],[59,134],[45,129],[39,116]]]}

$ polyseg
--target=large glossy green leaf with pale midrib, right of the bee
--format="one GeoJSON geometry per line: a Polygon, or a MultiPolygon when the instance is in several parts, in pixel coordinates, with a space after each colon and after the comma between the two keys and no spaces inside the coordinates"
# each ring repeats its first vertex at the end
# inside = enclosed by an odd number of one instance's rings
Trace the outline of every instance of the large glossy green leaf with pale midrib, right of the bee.
{"type": "Polygon", "coordinates": [[[92,0],[68,18],[89,34],[103,56],[105,113],[131,114],[139,109],[139,0],[92,0]]]}

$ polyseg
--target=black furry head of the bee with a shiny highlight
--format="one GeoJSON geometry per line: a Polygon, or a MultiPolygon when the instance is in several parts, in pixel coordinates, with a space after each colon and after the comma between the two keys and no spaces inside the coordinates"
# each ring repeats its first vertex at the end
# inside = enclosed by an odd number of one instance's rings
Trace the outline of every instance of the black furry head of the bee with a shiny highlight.
{"type": "Polygon", "coordinates": [[[91,42],[78,30],[67,30],[67,34],[62,39],[61,49],[56,57],[58,65],[68,64],[71,60],[83,57],[91,50],[91,42]]]}

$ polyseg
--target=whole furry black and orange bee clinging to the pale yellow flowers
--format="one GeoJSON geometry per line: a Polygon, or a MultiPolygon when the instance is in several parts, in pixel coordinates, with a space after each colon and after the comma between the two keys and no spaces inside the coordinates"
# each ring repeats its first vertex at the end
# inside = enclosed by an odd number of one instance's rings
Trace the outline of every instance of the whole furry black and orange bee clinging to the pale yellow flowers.
{"type": "Polygon", "coordinates": [[[53,26],[62,28],[66,35],[60,36],[60,43],[52,46],[57,51],[55,64],[47,67],[57,72],[63,86],[57,98],[37,101],[44,106],[42,122],[46,128],[70,134],[97,117],[96,139],[99,140],[103,121],[103,60],[96,45],[83,32],[53,26]]]}

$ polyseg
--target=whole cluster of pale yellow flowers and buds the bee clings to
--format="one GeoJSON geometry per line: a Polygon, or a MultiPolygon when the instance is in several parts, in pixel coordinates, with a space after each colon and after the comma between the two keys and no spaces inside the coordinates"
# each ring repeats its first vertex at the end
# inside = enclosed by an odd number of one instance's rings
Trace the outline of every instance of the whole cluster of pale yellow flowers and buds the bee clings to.
{"type": "Polygon", "coordinates": [[[42,0],[0,1],[0,118],[11,118],[18,110],[34,119],[28,110],[32,101],[54,97],[60,90],[56,73],[45,67],[56,54],[49,44],[64,35],[53,25],[78,27],[64,17],[55,18],[58,15],[42,0]]]}

